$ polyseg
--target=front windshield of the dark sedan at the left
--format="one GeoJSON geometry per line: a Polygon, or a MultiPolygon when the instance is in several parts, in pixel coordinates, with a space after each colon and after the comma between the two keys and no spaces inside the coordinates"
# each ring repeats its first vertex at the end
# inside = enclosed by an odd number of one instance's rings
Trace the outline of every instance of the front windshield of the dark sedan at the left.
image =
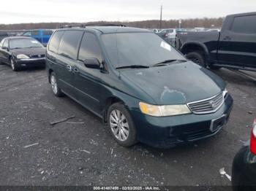
{"type": "Polygon", "coordinates": [[[20,49],[29,47],[42,47],[35,39],[12,39],[10,40],[10,49],[20,49]]]}

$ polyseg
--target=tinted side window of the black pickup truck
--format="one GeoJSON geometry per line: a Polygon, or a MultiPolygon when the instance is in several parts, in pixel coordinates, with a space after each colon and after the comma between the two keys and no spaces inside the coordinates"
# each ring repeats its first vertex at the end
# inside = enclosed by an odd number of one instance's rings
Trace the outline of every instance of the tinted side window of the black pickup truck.
{"type": "Polygon", "coordinates": [[[256,15],[235,17],[231,31],[244,34],[256,34],[256,15]]]}

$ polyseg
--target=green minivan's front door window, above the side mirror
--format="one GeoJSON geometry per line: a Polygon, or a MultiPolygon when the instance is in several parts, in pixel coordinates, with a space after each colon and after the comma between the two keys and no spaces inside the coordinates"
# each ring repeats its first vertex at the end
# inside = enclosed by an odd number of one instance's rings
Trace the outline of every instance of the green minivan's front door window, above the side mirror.
{"type": "Polygon", "coordinates": [[[78,60],[84,61],[86,58],[97,58],[102,63],[102,51],[94,34],[87,33],[83,36],[78,60]]]}

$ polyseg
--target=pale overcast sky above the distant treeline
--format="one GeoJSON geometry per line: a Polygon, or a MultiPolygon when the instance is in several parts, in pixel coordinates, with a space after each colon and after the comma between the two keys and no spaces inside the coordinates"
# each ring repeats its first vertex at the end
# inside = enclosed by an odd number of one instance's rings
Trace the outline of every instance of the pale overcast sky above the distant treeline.
{"type": "Polygon", "coordinates": [[[0,23],[88,22],[224,17],[256,12],[256,0],[3,0],[0,23]]]}

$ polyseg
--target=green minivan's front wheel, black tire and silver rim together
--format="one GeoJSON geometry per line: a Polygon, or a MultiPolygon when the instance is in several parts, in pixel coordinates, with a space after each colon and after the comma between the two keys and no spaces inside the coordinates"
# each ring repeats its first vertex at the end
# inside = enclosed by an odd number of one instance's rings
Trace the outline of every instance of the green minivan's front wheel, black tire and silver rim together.
{"type": "Polygon", "coordinates": [[[122,147],[131,147],[138,142],[135,125],[124,104],[116,103],[109,107],[108,128],[113,139],[122,147]]]}

